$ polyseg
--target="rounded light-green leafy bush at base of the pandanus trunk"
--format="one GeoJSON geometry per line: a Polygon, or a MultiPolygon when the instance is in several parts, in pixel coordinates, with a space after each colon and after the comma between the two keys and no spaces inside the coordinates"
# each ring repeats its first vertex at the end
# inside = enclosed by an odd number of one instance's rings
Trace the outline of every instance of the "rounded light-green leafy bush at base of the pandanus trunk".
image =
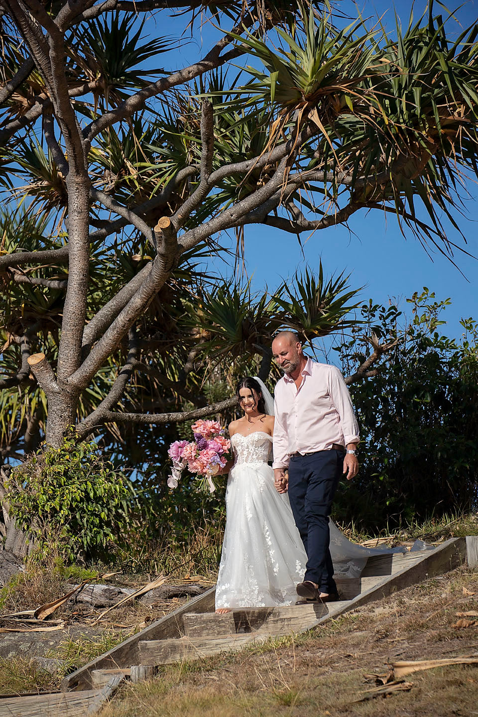
{"type": "Polygon", "coordinates": [[[72,432],[16,467],[6,488],[11,515],[42,555],[101,554],[128,521],[124,476],[94,442],[77,442],[72,432]]]}

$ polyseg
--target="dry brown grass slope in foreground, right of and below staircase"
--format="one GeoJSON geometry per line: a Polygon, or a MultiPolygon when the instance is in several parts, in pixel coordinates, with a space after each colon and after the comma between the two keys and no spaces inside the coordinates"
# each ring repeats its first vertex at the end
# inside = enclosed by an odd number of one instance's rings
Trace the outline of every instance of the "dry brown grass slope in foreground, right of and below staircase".
{"type": "Polygon", "coordinates": [[[478,667],[427,670],[409,693],[355,703],[366,673],[394,660],[477,654],[478,628],[453,627],[478,609],[478,571],[460,568],[372,603],[306,635],[239,655],[163,668],[124,688],[101,717],[449,717],[478,712],[478,667]],[[472,595],[464,594],[464,588],[472,595]]]}

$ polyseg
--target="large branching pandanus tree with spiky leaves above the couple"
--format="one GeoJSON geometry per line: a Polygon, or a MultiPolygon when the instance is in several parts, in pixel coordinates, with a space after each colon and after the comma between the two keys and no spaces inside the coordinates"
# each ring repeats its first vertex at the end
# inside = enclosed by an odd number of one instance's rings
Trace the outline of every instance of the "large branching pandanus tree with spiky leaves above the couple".
{"type": "Polygon", "coordinates": [[[247,252],[249,224],[317,241],[375,209],[452,255],[440,217],[454,222],[463,178],[478,174],[476,27],[451,41],[432,4],[391,37],[343,27],[328,3],[0,7],[9,445],[21,436],[29,450],[39,427],[55,445],[71,425],[224,409],[202,391],[206,369],[247,357],[266,375],[274,328],[312,341],[347,320],[343,277],[307,273],[257,298],[215,287],[201,259],[225,232],[247,252]],[[167,30],[174,9],[192,32],[211,18],[218,39],[168,70],[153,65],[171,65],[177,41],[150,39],[145,18],[167,30]]]}

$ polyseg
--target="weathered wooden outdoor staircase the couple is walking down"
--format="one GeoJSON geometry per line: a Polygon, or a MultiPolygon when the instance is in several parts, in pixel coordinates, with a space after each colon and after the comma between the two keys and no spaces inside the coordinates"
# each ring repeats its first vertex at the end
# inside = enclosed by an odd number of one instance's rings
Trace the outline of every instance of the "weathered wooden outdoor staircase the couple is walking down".
{"type": "Polygon", "coordinates": [[[466,561],[469,566],[478,565],[478,538],[451,538],[432,550],[373,556],[359,578],[338,577],[343,599],[325,604],[242,608],[215,614],[213,588],[68,675],[62,681],[63,695],[39,695],[34,702],[32,697],[0,698],[0,717],[92,714],[123,680],[138,682],[152,677],[161,665],[237,652],[270,638],[320,628],[344,612],[466,561]]]}

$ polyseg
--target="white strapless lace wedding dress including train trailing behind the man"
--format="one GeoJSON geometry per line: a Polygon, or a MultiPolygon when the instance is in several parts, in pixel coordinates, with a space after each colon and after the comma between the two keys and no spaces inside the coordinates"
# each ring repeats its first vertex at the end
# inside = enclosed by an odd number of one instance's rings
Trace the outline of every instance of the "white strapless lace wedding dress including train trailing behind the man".
{"type": "MultiPolygon", "coordinates": [[[[219,607],[274,607],[295,604],[307,556],[287,493],[274,487],[267,465],[272,436],[255,431],[231,438],[234,465],[226,489],[226,531],[216,586],[219,607]]],[[[330,521],[330,554],[335,576],[359,576],[369,556],[405,548],[370,549],[350,543],[330,521]]]]}

